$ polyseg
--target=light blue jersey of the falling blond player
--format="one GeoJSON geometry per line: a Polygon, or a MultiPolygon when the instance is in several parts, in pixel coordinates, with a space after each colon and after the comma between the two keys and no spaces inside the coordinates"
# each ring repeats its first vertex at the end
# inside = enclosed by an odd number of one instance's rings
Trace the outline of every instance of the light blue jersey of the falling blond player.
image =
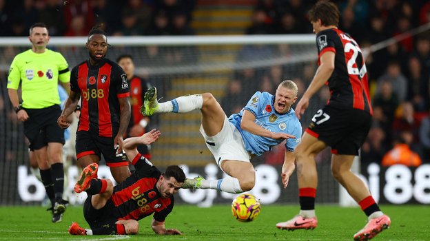
{"type": "Polygon", "coordinates": [[[302,125],[298,121],[296,114],[294,114],[294,109],[289,109],[289,112],[285,114],[278,114],[274,109],[274,101],[274,95],[267,92],[256,92],[239,114],[232,114],[229,117],[230,123],[235,125],[240,134],[242,134],[245,149],[251,151],[252,154],[260,156],[266,151],[272,150],[272,147],[282,143],[283,140],[257,136],[240,128],[240,121],[242,121],[245,110],[256,116],[255,123],[260,127],[274,133],[285,132],[296,136],[297,138],[287,139],[285,147],[288,151],[294,151],[294,148],[300,143],[302,125]]]}

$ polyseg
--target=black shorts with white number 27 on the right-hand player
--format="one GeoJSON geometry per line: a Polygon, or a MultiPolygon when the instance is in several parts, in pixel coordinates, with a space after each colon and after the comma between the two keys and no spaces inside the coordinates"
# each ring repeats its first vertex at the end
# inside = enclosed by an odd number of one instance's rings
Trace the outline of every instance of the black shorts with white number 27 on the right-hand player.
{"type": "Polygon", "coordinates": [[[306,129],[331,147],[332,154],[358,156],[371,127],[371,114],[361,109],[338,109],[326,105],[306,129]]]}

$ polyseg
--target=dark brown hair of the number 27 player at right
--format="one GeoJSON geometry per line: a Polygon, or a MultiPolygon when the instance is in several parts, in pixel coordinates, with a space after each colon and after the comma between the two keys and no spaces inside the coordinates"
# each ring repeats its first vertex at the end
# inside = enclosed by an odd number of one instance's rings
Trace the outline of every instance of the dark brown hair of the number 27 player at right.
{"type": "Polygon", "coordinates": [[[335,25],[339,26],[340,12],[336,4],[325,1],[318,1],[309,12],[307,12],[307,18],[311,22],[318,21],[321,19],[321,23],[324,26],[335,25]]]}

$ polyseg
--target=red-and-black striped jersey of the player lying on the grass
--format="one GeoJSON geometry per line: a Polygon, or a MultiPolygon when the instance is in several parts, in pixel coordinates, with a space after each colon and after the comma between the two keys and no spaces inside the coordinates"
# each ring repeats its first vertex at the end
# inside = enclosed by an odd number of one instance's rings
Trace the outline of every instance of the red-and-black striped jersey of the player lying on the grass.
{"type": "Polygon", "coordinates": [[[162,198],[156,188],[161,172],[152,163],[138,154],[132,164],[134,173],[114,187],[110,200],[115,205],[113,215],[124,220],[141,220],[154,213],[154,219],[164,222],[172,212],[174,198],[162,198]]]}

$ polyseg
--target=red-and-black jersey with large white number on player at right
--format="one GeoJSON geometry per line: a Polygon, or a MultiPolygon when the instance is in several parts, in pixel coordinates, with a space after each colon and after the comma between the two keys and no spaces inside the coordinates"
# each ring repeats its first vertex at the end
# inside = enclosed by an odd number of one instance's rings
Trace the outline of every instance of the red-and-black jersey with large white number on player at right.
{"type": "Polygon", "coordinates": [[[331,51],[336,54],[334,72],[326,83],[330,88],[327,105],[362,109],[373,114],[365,58],[356,41],[348,34],[331,28],[318,33],[316,45],[318,65],[320,65],[320,56],[325,52],[331,51]]]}

